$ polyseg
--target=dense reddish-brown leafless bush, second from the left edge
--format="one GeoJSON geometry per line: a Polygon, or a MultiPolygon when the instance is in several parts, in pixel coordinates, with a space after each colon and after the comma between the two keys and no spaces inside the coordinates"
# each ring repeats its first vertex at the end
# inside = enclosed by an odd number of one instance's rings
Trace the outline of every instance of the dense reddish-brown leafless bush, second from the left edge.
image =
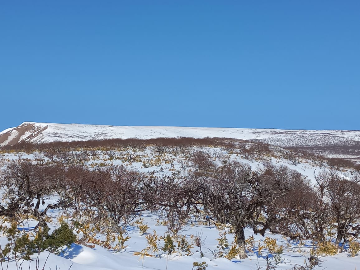
{"type": "MultiPolygon", "coordinates": [[[[76,211],[96,210],[95,220],[108,220],[112,225],[125,225],[137,212],[150,208],[153,203],[151,178],[123,166],[112,166],[91,171],[73,166],[67,172],[67,185],[75,199],[76,211]]],[[[111,226],[111,224],[110,224],[111,226]]]]}

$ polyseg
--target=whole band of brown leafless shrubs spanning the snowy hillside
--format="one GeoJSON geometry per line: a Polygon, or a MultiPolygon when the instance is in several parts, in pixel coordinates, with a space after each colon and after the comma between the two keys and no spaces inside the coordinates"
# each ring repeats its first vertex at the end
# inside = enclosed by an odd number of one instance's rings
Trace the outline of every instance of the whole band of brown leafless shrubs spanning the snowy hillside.
{"type": "MultiPolygon", "coordinates": [[[[325,240],[328,231],[334,229],[336,244],[340,246],[350,237],[359,237],[360,174],[356,167],[352,167],[352,175],[323,171],[315,175],[316,184],[311,185],[305,176],[287,166],[264,163],[263,168],[254,170],[235,161],[219,164],[200,147],[192,152],[190,145],[204,144],[229,150],[236,146],[241,148],[240,153],[253,151],[255,156],[271,151],[265,144],[254,146],[254,143],[233,141],[229,144],[226,139],[209,138],[36,145],[32,147],[41,150],[52,163],[28,159],[6,163],[0,175],[0,185],[4,187],[0,216],[19,219],[30,213],[39,221],[38,226],[46,227],[47,211],[62,208],[69,209],[80,223],[117,228],[126,225],[140,211],[160,210],[168,230],[177,234],[192,213],[204,210],[217,222],[233,226],[240,258],[246,256],[246,227],[260,234],[270,230],[291,239],[317,241],[325,240]],[[106,148],[106,154],[114,157],[112,147],[125,145],[152,145],[159,154],[172,151],[180,157],[189,156],[188,174],[155,177],[119,165],[95,169],[84,165],[97,147],[106,148]],[[73,151],[74,147],[86,149],[73,151]],[[58,201],[47,203],[53,195],[57,195],[58,201]]],[[[342,159],[328,162],[334,168],[351,167],[342,159]]]]}

